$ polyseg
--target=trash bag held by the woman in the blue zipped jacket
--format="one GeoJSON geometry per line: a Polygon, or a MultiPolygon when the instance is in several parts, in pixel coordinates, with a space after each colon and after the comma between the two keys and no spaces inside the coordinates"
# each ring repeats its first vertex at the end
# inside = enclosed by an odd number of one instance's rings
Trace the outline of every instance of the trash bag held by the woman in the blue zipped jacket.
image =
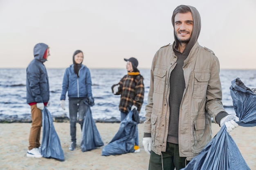
{"type": "MultiPolygon", "coordinates": [[[[87,102],[85,104],[88,105],[87,102]]],[[[85,118],[83,121],[83,130],[82,130],[82,141],[81,141],[81,150],[83,152],[96,149],[97,147],[103,146],[104,143],[101,139],[101,135],[97,129],[97,126],[92,118],[92,111],[88,105],[86,109],[85,118]]]]}

